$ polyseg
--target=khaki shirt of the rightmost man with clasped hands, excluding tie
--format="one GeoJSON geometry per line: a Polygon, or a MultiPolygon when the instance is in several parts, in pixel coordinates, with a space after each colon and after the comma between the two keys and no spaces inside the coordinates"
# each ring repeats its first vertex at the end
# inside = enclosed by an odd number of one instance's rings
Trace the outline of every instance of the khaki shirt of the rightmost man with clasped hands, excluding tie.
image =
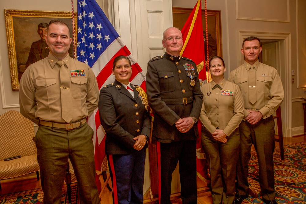
{"type": "Polygon", "coordinates": [[[270,117],[284,98],[284,89],[277,70],[271,66],[256,61],[253,66],[256,69],[257,101],[255,104],[248,100],[248,71],[251,65],[244,64],[230,73],[229,81],[236,83],[241,91],[244,101],[244,118],[250,113],[247,109],[256,109],[263,115],[263,119],[270,117]]]}

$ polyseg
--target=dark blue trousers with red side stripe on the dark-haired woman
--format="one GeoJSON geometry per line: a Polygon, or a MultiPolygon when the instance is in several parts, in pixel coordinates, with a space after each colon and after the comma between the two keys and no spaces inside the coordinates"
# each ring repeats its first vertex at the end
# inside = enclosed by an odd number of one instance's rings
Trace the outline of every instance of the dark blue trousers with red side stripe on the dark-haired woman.
{"type": "Polygon", "coordinates": [[[113,184],[113,203],[142,204],[146,150],[106,156],[113,184]]]}

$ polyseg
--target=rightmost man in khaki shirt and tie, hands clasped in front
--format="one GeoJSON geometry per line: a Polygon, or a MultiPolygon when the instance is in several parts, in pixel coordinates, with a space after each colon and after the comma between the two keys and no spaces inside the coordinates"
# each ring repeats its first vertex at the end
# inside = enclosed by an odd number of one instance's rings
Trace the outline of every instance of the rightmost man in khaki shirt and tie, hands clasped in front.
{"type": "Polygon", "coordinates": [[[258,60],[262,47],[256,37],[248,37],[242,43],[244,64],[230,73],[229,81],[236,83],[244,100],[244,120],[240,128],[240,159],[237,165],[237,195],[234,203],[248,198],[248,162],[254,144],[259,164],[259,184],[263,201],[275,201],[273,152],[274,120],[272,114],[284,98],[281,79],[273,67],[258,60]]]}

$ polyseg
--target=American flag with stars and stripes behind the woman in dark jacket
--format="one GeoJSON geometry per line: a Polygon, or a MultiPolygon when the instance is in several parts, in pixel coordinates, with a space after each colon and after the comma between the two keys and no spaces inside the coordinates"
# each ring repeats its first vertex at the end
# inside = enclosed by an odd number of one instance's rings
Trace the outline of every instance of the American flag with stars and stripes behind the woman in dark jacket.
{"type": "MultiPolygon", "coordinates": [[[[130,82],[145,90],[145,74],[125,46],[113,25],[95,0],[78,0],[77,3],[77,60],[88,64],[98,81],[99,90],[114,82],[113,60],[118,55],[129,57],[132,63],[130,82]]],[[[105,157],[105,131],[100,124],[99,111],[88,117],[88,124],[94,130],[96,183],[101,191],[99,176],[105,157]]]]}

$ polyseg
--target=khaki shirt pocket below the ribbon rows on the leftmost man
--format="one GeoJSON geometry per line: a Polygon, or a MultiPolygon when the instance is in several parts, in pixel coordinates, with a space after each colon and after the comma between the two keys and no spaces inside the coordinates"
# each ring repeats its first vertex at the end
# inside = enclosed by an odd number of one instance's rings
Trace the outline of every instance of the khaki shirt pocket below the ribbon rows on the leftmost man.
{"type": "Polygon", "coordinates": [[[83,98],[87,93],[87,78],[84,77],[71,77],[71,89],[73,98],[83,98]]]}

